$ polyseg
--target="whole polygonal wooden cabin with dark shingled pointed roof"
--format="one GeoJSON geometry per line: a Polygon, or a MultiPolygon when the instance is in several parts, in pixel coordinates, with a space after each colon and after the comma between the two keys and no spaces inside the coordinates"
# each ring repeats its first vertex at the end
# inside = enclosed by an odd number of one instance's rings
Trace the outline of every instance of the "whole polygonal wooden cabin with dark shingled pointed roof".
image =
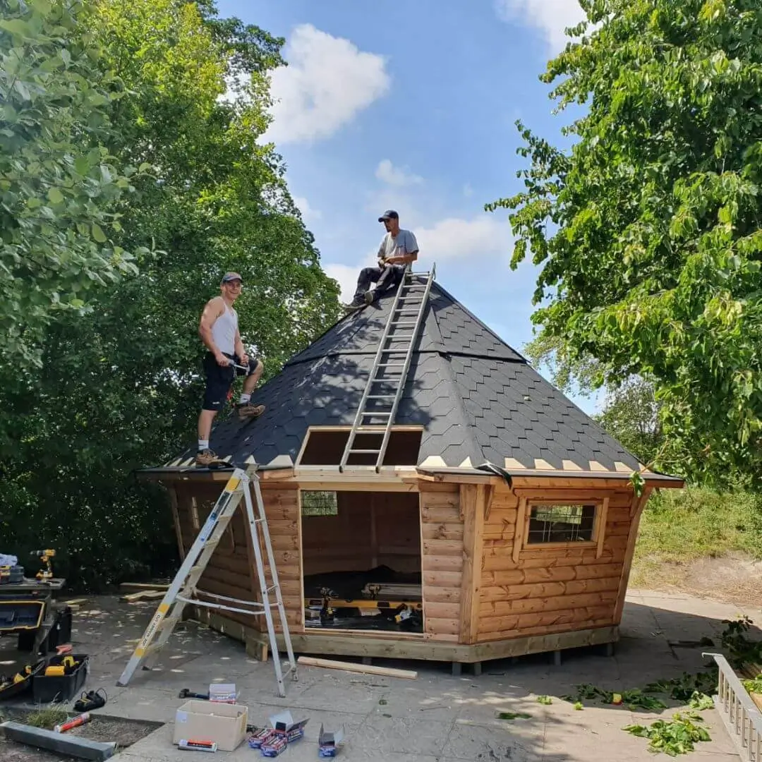
{"type": "MultiPolygon", "coordinates": [[[[683,481],[645,469],[436,282],[383,466],[341,469],[393,303],[341,319],[255,392],[261,418],[212,434],[219,456],[257,464],[294,650],[459,671],[613,644],[648,496],[683,481]]],[[[194,451],[142,472],[168,490],[181,553],[229,478],[194,451]]],[[[243,530],[239,511],[200,598],[258,600],[243,530]]],[[[267,642],[261,617],[194,616],[251,653],[267,642]]]]}

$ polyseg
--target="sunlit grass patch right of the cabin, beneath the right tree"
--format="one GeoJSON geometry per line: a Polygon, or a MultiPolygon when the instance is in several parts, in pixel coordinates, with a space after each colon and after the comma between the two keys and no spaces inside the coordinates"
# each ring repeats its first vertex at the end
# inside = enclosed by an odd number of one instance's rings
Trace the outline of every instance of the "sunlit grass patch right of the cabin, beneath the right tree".
{"type": "Polygon", "coordinates": [[[633,587],[671,581],[669,567],[741,552],[762,555],[762,495],[685,488],[655,492],[645,508],[635,548],[633,587]]]}

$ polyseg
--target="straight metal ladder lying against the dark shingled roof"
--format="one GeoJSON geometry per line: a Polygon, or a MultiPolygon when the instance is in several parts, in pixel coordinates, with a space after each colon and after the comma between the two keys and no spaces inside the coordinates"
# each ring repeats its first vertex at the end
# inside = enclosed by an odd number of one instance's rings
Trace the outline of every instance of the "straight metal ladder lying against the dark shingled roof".
{"type": "Polygon", "coordinates": [[[339,463],[340,472],[344,471],[352,456],[376,456],[376,472],[381,469],[436,270],[436,264],[428,273],[413,273],[409,267],[405,267],[347,437],[339,463]],[[374,418],[381,422],[373,423],[374,418]],[[357,434],[370,434],[373,440],[380,440],[378,446],[355,447],[357,434]]]}

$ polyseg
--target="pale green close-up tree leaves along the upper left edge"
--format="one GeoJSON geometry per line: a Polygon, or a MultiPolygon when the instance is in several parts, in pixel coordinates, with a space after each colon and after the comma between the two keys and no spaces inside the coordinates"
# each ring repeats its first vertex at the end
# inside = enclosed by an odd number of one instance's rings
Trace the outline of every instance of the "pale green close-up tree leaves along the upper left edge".
{"type": "MultiPolygon", "coordinates": [[[[83,0],[0,0],[0,364],[40,364],[40,335],[136,273],[113,238],[135,168],[106,147],[123,95],[83,0]]],[[[133,254],[140,255],[136,249],[133,254]]]]}

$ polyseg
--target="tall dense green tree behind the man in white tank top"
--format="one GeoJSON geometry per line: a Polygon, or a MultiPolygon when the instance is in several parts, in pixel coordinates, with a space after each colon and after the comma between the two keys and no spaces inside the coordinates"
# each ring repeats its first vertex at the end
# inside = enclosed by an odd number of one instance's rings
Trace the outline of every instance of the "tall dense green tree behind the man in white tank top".
{"type": "Polygon", "coordinates": [[[282,41],[207,2],[99,0],[87,24],[126,93],[111,104],[107,147],[150,167],[114,205],[116,241],[152,254],[95,294],[88,314],[59,315],[40,373],[0,391],[12,411],[0,534],[18,547],[53,543],[69,578],[94,588],[174,560],[165,495],[133,473],[195,440],[198,319],[223,273],[242,273],[240,328],[266,377],[339,306],[280,157],[257,142],[282,41]]]}

